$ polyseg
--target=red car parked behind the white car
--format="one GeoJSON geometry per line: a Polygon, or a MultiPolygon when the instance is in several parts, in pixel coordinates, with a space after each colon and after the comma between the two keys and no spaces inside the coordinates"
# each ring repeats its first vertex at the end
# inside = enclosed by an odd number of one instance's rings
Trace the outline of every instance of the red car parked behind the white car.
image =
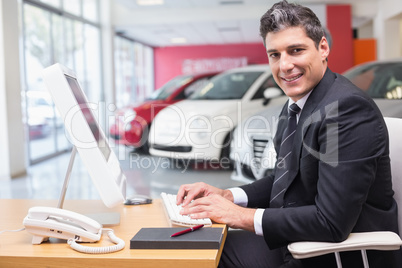
{"type": "Polygon", "coordinates": [[[215,76],[216,72],[179,75],[153,92],[140,105],[131,105],[115,113],[109,134],[118,144],[148,153],[149,128],[155,116],[165,107],[188,98],[215,76]]]}

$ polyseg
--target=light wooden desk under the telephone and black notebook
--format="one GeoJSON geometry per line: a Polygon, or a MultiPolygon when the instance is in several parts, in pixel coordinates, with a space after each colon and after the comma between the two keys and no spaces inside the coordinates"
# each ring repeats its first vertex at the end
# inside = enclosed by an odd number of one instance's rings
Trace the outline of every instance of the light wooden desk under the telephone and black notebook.
{"type": "MultiPolygon", "coordinates": [[[[0,231],[23,228],[22,221],[33,206],[56,207],[56,200],[0,199],[0,231]]],[[[226,239],[220,250],[134,250],[130,239],[142,227],[167,227],[161,200],[141,206],[118,206],[108,210],[100,200],[66,200],[64,208],[82,214],[107,211],[120,212],[121,223],[111,227],[126,247],[109,254],[84,254],[70,248],[65,240],[50,239],[41,245],[32,245],[27,231],[7,232],[0,235],[0,267],[217,267],[226,239]]],[[[225,225],[214,225],[225,227],[225,225]]],[[[88,246],[113,245],[104,234],[101,241],[88,246]]]]}

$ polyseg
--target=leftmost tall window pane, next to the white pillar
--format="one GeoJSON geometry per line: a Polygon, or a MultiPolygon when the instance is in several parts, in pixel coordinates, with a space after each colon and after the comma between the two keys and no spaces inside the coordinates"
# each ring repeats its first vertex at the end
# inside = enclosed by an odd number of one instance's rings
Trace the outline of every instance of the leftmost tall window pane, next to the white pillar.
{"type": "Polygon", "coordinates": [[[38,159],[56,151],[52,135],[54,110],[41,75],[43,68],[51,63],[51,16],[29,5],[25,6],[24,14],[26,123],[31,158],[38,159]]]}

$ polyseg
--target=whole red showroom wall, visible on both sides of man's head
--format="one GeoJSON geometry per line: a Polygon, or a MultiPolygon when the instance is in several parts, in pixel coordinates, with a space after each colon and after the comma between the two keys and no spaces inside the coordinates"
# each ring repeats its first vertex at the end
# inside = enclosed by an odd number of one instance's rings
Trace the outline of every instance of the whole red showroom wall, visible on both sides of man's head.
{"type": "MultiPolygon", "coordinates": [[[[350,5],[327,5],[327,28],[332,35],[328,65],[342,73],[353,66],[352,14],[350,5]]],[[[155,88],[182,73],[185,59],[247,57],[248,64],[268,63],[265,48],[257,44],[177,46],[155,48],[155,88]]]]}

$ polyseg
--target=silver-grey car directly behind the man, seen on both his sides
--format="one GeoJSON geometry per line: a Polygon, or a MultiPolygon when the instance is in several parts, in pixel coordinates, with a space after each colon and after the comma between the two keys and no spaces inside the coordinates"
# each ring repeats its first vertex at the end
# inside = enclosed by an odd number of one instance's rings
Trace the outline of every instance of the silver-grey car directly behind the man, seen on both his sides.
{"type": "MultiPolygon", "coordinates": [[[[343,75],[373,98],[384,117],[402,118],[402,59],[363,63],[343,75]]],[[[230,154],[233,180],[247,183],[273,171],[276,152],[272,140],[282,107],[270,106],[235,129],[230,154]]]]}

